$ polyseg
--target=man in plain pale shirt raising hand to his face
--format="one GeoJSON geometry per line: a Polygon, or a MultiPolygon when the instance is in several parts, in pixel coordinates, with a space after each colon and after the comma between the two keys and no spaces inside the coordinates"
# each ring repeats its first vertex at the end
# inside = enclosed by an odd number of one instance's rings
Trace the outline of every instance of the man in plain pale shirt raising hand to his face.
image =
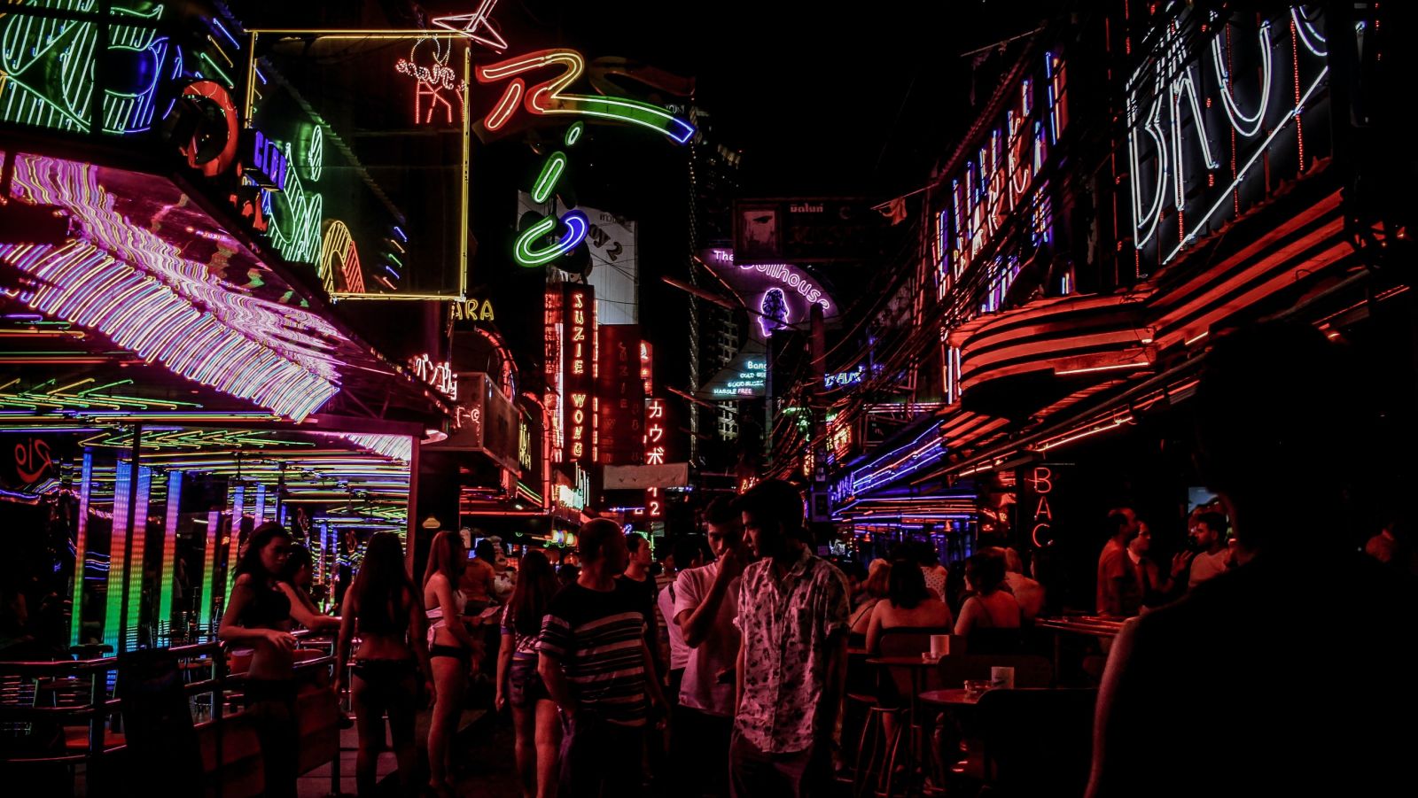
{"type": "MultiPolygon", "coordinates": [[[[679,686],[672,747],[685,792],[727,792],[729,737],[733,733],[733,668],[739,656],[739,577],[752,560],[740,515],[718,499],[705,510],[709,550],[716,561],[682,571],[675,580],[675,624],[689,648],[679,686]]],[[[678,557],[676,557],[678,558],[678,557]]]]}

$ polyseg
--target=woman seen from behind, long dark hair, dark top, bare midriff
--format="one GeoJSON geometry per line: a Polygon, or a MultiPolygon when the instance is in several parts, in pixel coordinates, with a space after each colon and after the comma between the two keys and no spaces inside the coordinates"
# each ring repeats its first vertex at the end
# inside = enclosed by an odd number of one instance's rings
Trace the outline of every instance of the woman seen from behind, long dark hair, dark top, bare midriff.
{"type": "Polygon", "coordinates": [[[384,743],[384,713],[398,760],[398,780],[414,795],[414,714],[418,686],[434,690],[428,652],[423,645],[424,607],[404,568],[398,536],[380,532],[370,537],[364,561],[345,592],[340,638],[336,646],[335,689],[343,686],[350,641],[359,629],[350,703],[359,727],[354,784],[360,795],[374,795],[374,765],[384,743]]]}

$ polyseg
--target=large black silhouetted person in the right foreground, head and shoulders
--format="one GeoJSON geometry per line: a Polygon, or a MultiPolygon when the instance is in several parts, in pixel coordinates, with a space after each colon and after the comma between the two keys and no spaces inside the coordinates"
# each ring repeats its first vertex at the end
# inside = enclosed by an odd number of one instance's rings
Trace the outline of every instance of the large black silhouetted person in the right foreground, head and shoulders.
{"type": "Polygon", "coordinates": [[[1225,502],[1238,564],[1123,626],[1090,798],[1392,795],[1412,782],[1418,584],[1344,534],[1346,483],[1391,462],[1358,455],[1374,438],[1349,363],[1302,325],[1224,336],[1207,356],[1197,465],[1225,502]],[[1297,607],[1316,563],[1324,600],[1297,607]],[[1224,747],[1202,763],[1198,741],[1224,747]]]}

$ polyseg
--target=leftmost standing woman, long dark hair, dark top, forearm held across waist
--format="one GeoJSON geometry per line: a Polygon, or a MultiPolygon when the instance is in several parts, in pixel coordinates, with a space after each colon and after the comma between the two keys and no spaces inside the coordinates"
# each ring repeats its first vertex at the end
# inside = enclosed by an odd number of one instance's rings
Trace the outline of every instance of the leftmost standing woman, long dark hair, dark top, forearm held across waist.
{"type": "Polygon", "coordinates": [[[291,600],[277,587],[289,547],[291,533],[278,523],[252,530],[217,628],[223,642],[252,649],[244,696],[261,746],[264,794],[271,797],[294,797],[298,775],[295,636],[291,600]]]}

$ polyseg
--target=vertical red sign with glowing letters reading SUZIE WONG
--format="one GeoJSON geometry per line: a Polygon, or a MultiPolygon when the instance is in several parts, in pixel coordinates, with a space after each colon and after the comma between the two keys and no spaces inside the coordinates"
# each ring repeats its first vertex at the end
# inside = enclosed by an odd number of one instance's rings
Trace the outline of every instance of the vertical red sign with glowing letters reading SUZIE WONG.
{"type": "Polygon", "coordinates": [[[588,285],[562,286],[562,461],[596,462],[596,296],[588,285]]]}

